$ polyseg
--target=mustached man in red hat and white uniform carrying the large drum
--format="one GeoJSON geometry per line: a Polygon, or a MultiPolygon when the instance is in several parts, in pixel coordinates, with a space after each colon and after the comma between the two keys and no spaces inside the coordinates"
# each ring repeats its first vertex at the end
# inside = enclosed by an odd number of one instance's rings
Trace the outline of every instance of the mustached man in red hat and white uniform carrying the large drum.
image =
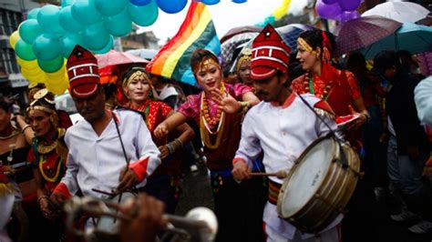
{"type": "MultiPolygon", "coordinates": [[[[256,94],[263,101],[244,118],[242,140],[232,161],[236,180],[252,176],[252,163],[261,151],[266,172],[288,172],[308,145],[327,135],[329,127],[336,129],[330,106],[309,94],[302,95],[302,100],[287,87],[290,86],[287,69],[290,52],[290,47],[271,25],[267,25],[252,43],[251,76],[256,94]]],[[[339,241],[341,215],[316,234],[302,233],[280,218],[277,200],[282,185],[282,179],[269,177],[269,199],[263,213],[267,241],[315,241],[317,237],[321,241],[339,241]]],[[[298,188],[299,194],[302,193],[302,187],[298,188]]]]}

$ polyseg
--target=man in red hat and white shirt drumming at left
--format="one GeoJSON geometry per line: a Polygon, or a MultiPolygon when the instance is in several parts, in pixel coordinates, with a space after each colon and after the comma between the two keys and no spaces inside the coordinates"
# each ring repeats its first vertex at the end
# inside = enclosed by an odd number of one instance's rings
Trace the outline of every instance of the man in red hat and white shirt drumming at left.
{"type": "Polygon", "coordinates": [[[61,205],[77,191],[84,196],[112,198],[108,194],[143,187],[146,176],[160,165],[160,153],[142,116],[132,110],[105,108],[98,61],[79,45],[67,60],[67,75],[70,94],[85,120],[67,129],[67,172],[51,200],[61,205]]]}

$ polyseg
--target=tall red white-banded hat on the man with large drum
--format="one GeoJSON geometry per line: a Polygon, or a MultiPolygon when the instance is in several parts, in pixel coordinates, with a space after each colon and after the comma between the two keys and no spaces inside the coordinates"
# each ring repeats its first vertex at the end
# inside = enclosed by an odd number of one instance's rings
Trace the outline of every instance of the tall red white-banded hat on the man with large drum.
{"type": "Polygon", "coordinates": [[[252,42],[251,78],[272,77],[277,70],[288,71],[291,48],[283,42],[272,25],[266,25],[252,42]]]}

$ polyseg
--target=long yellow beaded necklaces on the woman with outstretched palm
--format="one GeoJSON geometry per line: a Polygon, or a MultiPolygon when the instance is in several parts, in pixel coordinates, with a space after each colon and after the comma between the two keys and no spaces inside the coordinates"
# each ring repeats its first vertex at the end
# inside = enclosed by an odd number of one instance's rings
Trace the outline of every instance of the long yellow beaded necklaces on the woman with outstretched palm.
{"type": "MultiPolygon", "coordinates": [[[[221,95],[225,95],[225,84],[221,83],[221,95]]],[[[225,112],[222,112],[221,107],[218,106],[216,116],[210,117],[210,106],[203,92],[201,95],[201,110],[200,110],[200,133],[202,143],[204,146],[216,149],[221,145],[221,137],[223,133],[223,127],[225,123],[225,112]],[[218,125],[216,131],[212,129],[218,125]],[[214,144],[211,143],[211,135],[216,135],[216,141],[214,144]]]]}

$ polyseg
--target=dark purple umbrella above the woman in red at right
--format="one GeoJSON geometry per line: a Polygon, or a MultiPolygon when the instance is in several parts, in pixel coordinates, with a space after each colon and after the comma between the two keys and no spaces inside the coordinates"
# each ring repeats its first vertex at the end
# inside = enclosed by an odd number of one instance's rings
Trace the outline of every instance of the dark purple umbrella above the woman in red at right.
{"type": "Polygon", "coordinates": [[[402,25],[395,20],[380,16],[366,16],[350,20],[334,30],[336,35],[336,56],[349,53],[371,45],[376,41],[393,35],[402,25]]]}

